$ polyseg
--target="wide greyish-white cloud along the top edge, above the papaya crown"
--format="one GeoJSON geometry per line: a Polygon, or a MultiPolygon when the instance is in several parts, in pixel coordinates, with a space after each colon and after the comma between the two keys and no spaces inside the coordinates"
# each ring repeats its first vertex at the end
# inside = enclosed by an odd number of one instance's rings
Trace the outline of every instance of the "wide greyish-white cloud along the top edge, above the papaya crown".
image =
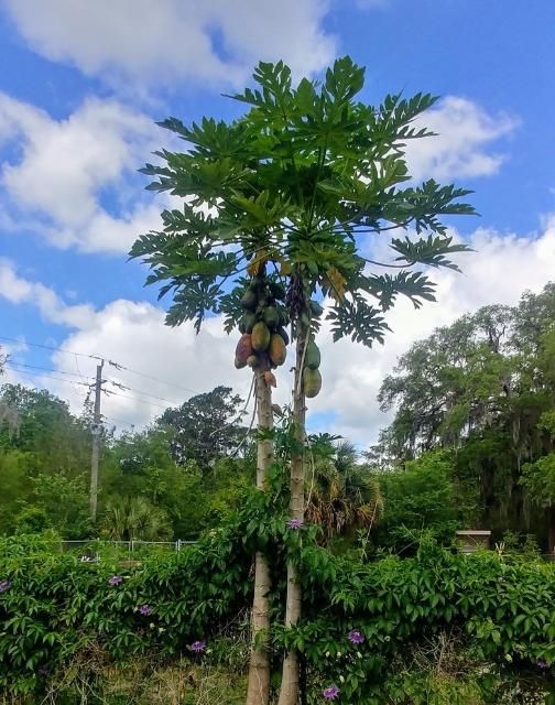
{"type": "Polygon", "coordinates": [[[325,66],[335,40],[323,0],[4,0],[37,53],[111,85],[240,84],[259,59],[325,66]]]}

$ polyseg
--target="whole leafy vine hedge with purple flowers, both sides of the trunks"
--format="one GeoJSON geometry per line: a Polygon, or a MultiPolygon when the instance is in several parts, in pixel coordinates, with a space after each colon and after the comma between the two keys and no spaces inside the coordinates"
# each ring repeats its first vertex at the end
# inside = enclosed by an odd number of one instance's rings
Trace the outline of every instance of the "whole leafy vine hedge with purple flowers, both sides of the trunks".
{"type": "MultiPolygon", "coordinates": [[[[217,652],[226,625],[246,612],[252,551],[246,536],[254,533],[254,524],[231,527],[128,571],[79,563],[31,539],[0,540],[0,693],[40,692],[92,646],[120,664],[139,654],[209,661],[211,654],[194,655],[188,647],[204,640],[217,652]]],[[[294,630],[275,627],[272,639],[276,661],[290,643],[303,654],[308,702],[322,702],[322,690],[337,685],[339,703],[416,703],[410,654],[445,633],[468,658],[489,664],[483,692],[492,674],[526,672],[545,684],[553,675],[555,566],[493,552],[460,555],[432,542],[415,557],[361,564],[316,546],[311,529],[285,534],[304,583],[304,618],[294,630]],[[349,640],[352,630],[361,643],[349,640]]],[[[275,584],[283,590],[283,582],[275,584]]]]}

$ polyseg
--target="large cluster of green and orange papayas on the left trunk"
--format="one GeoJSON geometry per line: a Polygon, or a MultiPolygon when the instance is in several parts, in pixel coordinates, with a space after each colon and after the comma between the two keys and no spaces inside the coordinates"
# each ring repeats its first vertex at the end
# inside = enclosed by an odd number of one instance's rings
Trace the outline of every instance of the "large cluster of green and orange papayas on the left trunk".
{"type": "Polygon", "coordinates": [[[279,282],[269,281],[263,274],[252,279],[241,299],[244,314],[239,322],[241,338],[237,344],[237,369],[258,367],[263,370],[285,362],[289,335],[285,327],[289,316],[280,304],[285,291],[279,282]]]}

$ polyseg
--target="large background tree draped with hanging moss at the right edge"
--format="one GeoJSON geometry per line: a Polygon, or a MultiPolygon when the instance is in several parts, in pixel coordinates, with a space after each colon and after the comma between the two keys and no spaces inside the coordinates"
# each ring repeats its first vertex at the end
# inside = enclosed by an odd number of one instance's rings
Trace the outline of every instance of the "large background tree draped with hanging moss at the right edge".
{"type": "Polygon", "coordinates": [[[454,481],[476,502],[475,521],[498,536],[544,531],[532,506],[542,501],[535,481],[545,473],[548,484],[554,447],[554,326],[549,283],[514,307],[480,308],[415,343],[380,390],[382,410],[395,409],[381,437],[385,454],[402,465],[451,449],[454,481]]]}

